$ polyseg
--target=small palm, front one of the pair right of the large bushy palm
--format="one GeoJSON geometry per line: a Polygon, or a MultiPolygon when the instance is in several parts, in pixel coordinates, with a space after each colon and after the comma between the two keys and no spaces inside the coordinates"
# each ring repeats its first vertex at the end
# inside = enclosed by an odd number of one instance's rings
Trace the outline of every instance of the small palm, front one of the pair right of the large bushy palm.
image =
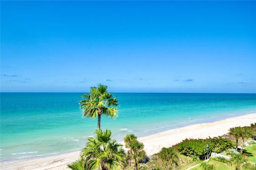
{"type": "Polygon", "coordinates": [[[127,155],[134,161],[135,169],[138,170],[139,163],[146,158],[146,152],[143,150],[143,143],[133,140],[129,144],[130,150],[127,151],[127,155]]]}

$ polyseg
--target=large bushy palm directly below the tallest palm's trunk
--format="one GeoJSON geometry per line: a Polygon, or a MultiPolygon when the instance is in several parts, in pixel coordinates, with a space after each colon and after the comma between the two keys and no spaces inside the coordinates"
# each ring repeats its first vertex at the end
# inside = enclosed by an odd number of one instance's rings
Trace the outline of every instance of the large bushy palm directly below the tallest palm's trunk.
{"type": "Polygon", "coordinates": [[[116,140],[111,140],[111,131],[96,130],[95,139],[88,138],[82,158],[89,169],[114,170],[125,165],[125,151],[116,140]]]}

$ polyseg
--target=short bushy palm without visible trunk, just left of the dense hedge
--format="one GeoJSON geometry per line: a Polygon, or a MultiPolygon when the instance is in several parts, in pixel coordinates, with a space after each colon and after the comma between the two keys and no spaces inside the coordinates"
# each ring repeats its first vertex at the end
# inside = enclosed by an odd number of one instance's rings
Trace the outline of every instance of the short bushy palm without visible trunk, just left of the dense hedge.
{"type": "Polygon", "coordinates": [[[179,165],[179,156],[172,147],[162,148],[162,150],[158,152],[157,155],[162,160],[163,167],[166,169],[170,169],[173,166],[179,165]]]}

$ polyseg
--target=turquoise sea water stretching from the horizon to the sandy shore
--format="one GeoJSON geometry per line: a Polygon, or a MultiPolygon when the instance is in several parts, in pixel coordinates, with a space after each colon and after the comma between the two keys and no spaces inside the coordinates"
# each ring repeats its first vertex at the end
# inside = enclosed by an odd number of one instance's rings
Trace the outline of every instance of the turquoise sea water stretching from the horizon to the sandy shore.
{"type": "MultiPolygon", "coordinates": [[[[84,147],[97,120],[82,118],[82,93],[1,93],[1,161],[30,158],[84,147]]],[[[256,94],[117,93],[115,120],[102,129],[122,140],[189,124],[255,113],[256,94]]]]}

